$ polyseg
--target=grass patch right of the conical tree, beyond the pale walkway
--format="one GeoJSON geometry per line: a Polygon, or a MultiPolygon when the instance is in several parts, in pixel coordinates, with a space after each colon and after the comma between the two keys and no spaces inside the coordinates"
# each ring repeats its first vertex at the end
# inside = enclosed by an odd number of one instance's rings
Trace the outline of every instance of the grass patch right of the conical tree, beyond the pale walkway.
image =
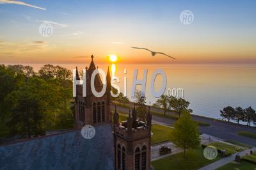
{"type": "Polygon", "coordinates": [[[209,143],[207,144],[208,146],[211,145],[211,146],[214,146],[217,148],[218,151],[220,150],[225,150],[225,155],[226,156],[229,156],[233,153],[236,153],[237,152],[237,149],[239,149],[239,151],[243,151],[244,148],[242,147],[239,147],[239,146],[233,146],[233,145],[230,145],[230,144],[225,144],[225,143],[209,143]]]}

